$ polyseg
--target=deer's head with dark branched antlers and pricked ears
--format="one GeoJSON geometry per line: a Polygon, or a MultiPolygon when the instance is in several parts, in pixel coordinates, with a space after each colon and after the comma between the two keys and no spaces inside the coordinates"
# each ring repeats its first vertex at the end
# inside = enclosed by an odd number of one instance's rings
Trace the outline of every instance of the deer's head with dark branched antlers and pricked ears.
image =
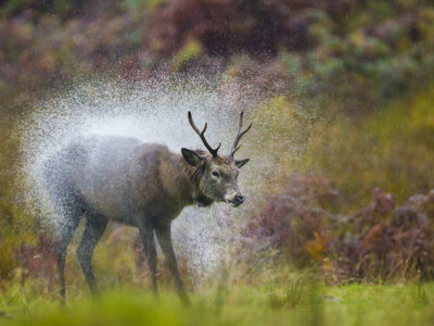
{"type": "Polygon", "coordinates": [[[229,155],[219,155],[217,152],[221,142],[217,148],[213,149],[205,139],[207,123],[205,123],[202,131],[197,129],[193,123],[191,112],[189,112],[189,122],[194,131],[201,137],[202,142],[208,152],[202,150],[181,150],[186,161],[195,167],[192,178],[196,179],[199,186],[200,203],[203,205],[210,204],[214,201],[231,203],[239,206],[244,202],[244,197],[238,186],[238,175],[240,168],[248,162],[248,159],[235,160],[234,153],[240,149],[238,145],[241,137],[252,127],[252,123],[243,131],[243,112],[240,113],[239,129],[235,140],[229,155]]]}

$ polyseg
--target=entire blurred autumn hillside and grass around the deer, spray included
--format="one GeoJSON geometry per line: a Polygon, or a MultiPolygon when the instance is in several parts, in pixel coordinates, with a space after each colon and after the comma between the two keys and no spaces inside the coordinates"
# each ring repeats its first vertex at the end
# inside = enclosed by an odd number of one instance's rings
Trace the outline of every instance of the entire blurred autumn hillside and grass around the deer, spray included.
{"type": "Polygon", "coordinates": [[[0,325],[434,324],[432,1],[3,0],[0,30],[0,325]],[[253,122],[246,202],[176,222],[192,304],[111,224],[101,294],[76,235],[62,306],[37,160],[94,130],[200,148],[189,110],[225,150],[253,122]]]}

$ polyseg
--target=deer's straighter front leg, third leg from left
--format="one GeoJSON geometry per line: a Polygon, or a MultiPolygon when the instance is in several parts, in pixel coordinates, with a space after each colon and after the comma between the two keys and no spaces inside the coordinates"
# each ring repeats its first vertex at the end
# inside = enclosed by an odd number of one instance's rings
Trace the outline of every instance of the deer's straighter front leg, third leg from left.
{"type": "Polygon", "coordinates": [[[142,238],[144,254],[146,255],[148,267],[151,271],[152,292],[157,298],[158,289],[156,285],[156,264],[157,256],[154,241],[154,227],[150,218],[139,216],[139,233],[142,238]]]}

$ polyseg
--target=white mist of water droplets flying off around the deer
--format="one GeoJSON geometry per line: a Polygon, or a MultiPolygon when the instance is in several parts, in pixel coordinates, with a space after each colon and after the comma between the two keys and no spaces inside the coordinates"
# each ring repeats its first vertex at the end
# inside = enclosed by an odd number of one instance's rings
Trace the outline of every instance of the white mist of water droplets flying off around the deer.
{"type": "MultiPolygon", "coordinates": [[[[29,215],[38,215],[46,225],[55,226],[42,179],[42,162],[72,138],[80,135],[123,135],[144,142],[159,142],[175,152],[181,147],[203,148],[192,130],[187,112],[192,111],[197,126],[208,122],[206,137],[212,146],[222,142],[229,152],[237,133],[238,114],[255,104],[246,89],[219,79],[203,77],[149,79],[140,83],[92,80],[60,91],[40,102],[20,122],[21,177],[23,200],[29,215]]],[[[244,142],[253,141],[244,137],[244,142]]],[[[242,152],[242,151],[241,151],[242,152]]],[[[247,167],[248,171],[248,167],[247,167]]],[[[250,170],[252,177],[253,170],[250,170]]],[[[240,187],[245,193],[243,176],[240,187]]],[[[174,222],[174,242],[191,260],[199,278],[218,267],[233,248],[233,233],[243,210],[224,204],[210,209],[187,208],[174,222]],[[231,218],[232,227],[227,227],[231,218]],[[222,223],[224,221],[224,223],[222,223]]]]}

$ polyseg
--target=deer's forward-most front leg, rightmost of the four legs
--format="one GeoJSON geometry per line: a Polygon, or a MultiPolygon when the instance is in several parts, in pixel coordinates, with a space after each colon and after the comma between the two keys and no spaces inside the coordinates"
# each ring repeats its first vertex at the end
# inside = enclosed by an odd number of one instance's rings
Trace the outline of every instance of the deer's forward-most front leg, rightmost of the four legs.
{"type": "Polygon", "coordinates": [[[170,271],[171,275],[174,276],[175,286],[178,291],[178,294],[179,294],[181,301],[184,304],[188,304],[188,303],[190,303],[190,300],[183,288],[181,276],[179,275],[178,263],[176,260],[174,246],[171,243],[170,224],[159,225],[158,227],[155,227],[155,233],[158,238],[159,246],[162,247],[162,251],[166,259],[169,271],[170,271]]]}

